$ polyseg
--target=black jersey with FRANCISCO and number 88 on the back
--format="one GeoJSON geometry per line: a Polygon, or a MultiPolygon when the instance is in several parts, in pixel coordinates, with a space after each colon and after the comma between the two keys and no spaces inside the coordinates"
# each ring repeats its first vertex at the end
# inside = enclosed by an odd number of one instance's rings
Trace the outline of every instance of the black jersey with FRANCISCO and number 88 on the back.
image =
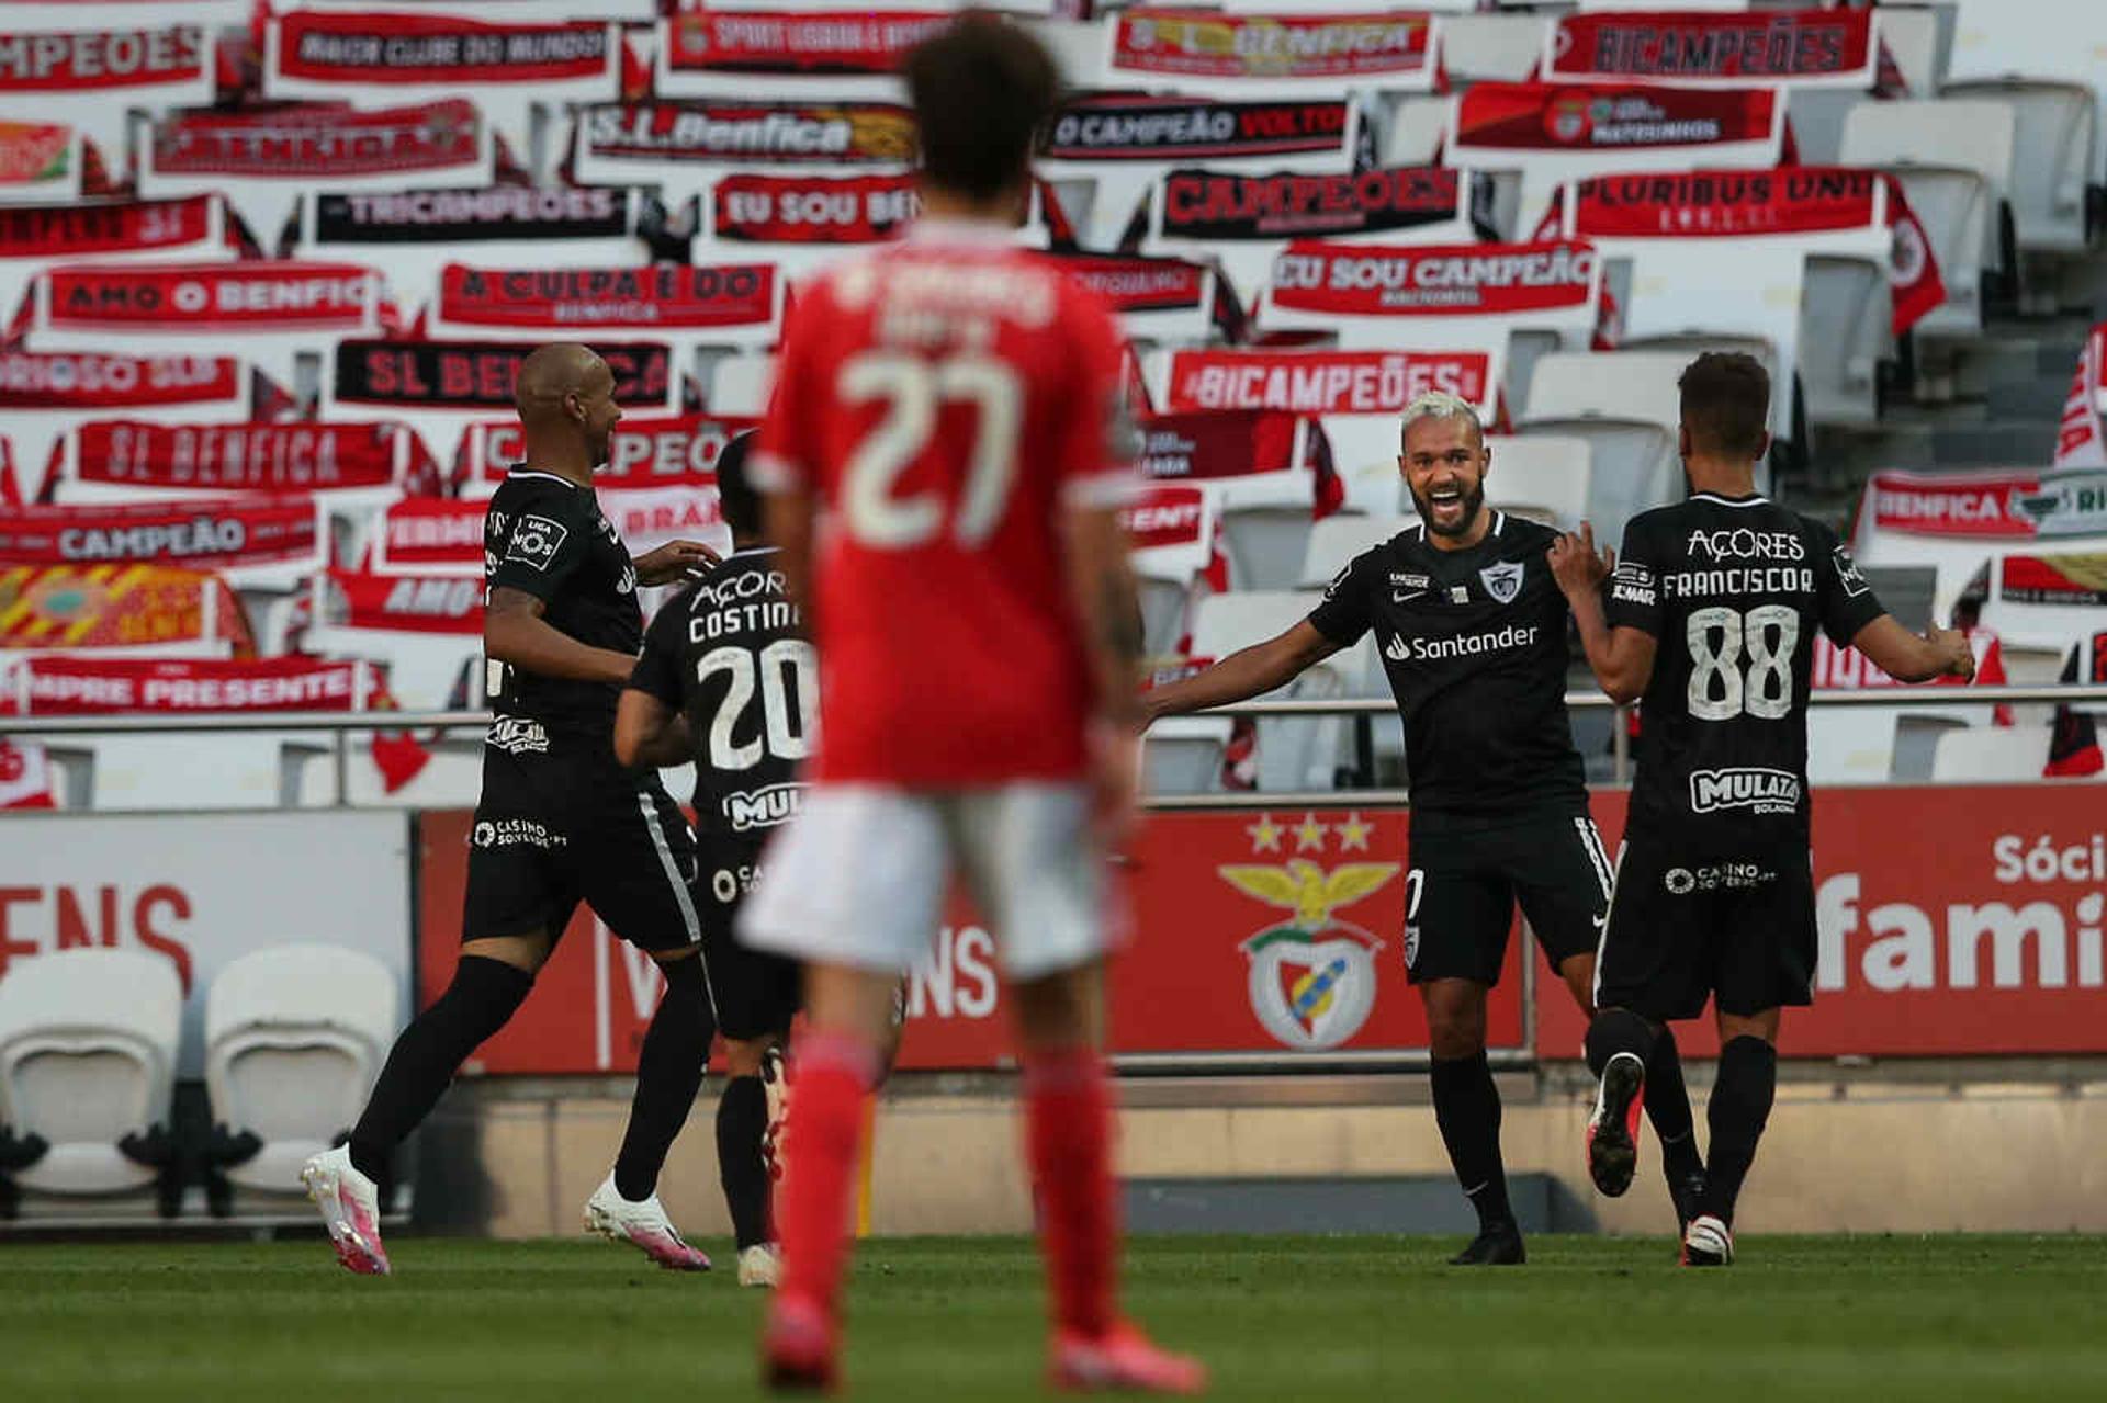
{"type": "Polygon", "coordinates": [[[1764,497],[1698,493],[1633,518],[1612,628],[1658,640],[1631,822],[1705,851],[1808,838],[1814,630],[1886,613],[1835,531],[1764,497]]]}

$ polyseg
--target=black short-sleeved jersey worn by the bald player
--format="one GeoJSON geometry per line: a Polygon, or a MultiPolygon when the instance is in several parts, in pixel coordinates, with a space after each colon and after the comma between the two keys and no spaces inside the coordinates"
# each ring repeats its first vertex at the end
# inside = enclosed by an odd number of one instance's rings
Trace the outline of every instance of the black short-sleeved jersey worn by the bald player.
{"type": "MultiPolygon", "coordinates": [[[[645,615],[636,605],[636,567],[600,514],[590,487],[552,472],[514,468],[491,495],[483,518],[483,584],[527,590],[550,628],[613,653],[636,653],[645,615]]],[[[550,735],[588,737],[613,756],[619,687],[533,676],[491,664],[491,710],[539,723],[550,735]]]]}

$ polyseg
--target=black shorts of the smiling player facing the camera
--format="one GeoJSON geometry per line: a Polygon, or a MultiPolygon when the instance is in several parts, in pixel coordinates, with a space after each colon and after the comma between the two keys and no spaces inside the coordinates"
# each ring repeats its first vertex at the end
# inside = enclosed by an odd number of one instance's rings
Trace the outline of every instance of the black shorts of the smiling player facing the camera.
{"type": "Polygon", "coordinates": [[[1610,908],[1610,855],[1587,813],[1494,828],[1414,824],[1405,874],[1405,973],[1498,984],[1515,904],[1553,969],[1595,950],[1610,908]]]}

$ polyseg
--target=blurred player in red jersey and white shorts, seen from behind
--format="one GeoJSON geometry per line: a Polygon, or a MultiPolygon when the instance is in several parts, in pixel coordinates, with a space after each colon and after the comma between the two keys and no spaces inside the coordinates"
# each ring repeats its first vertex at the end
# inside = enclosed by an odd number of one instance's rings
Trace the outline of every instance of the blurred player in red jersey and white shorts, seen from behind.
{"type": "Polygon", "coordinates": [[[904,74],[923,217],[799,293],[754,461],[826,718],[740,923],[807,963],[763,1369],[777,1388],[836,1378],[864,1098],[957,862],[1022,1036],[1054,1382],[1197,1392],[1205,1371],[1115,1304],[1106,843],[1134,805],[1140,653],[1121,341],[1011,242],[1060,84],[1039,42],[969,15],[904,74]]]}

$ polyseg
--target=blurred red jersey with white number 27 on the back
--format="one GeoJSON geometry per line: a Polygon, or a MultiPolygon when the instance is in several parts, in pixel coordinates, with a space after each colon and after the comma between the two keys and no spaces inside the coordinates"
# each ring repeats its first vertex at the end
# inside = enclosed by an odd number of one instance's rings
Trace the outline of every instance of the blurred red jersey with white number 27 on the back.
{"type": "Polygon", "coordinates": [[[820,501],[815,779],[1083,773],[1060,518],[1127,491],[1129,438],[1110,312],[1005,230],[923,221],[799,293],[754,468],[820,501]]]}

